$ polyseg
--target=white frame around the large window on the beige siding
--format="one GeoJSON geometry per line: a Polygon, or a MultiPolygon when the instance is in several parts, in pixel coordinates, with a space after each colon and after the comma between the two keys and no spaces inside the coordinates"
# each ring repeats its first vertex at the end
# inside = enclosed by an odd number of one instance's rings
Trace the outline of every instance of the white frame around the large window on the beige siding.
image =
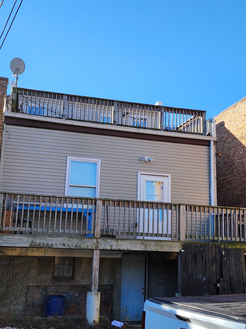
{"type": "Polygon", "coordinates": [[[99,189],[100,189],[100,168],[101,168],[101,159],[90,159],[90,158],[78,158],[78,157],[70,157],[67,156],[67,166],[66,166],[66,180],[65,180],[65,196],[75,196],[75,195],[69,195],[69,178],[70,178],[70,164],[72,161],[82,161],[82,162],[93,162],[97,163],[96,166],[96,191],[95,191],[95,197],[99,198],[99,189]]]}

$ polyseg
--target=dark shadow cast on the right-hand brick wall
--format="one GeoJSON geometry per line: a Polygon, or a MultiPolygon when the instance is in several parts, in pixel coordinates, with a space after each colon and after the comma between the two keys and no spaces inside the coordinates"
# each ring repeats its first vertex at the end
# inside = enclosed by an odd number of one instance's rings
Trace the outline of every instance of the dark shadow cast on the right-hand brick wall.
{"type": "Polygon", "coordinates": [[[217,205],[246,208],[246,147],[224,121],[216,124],[216,135],[217,205]]]}

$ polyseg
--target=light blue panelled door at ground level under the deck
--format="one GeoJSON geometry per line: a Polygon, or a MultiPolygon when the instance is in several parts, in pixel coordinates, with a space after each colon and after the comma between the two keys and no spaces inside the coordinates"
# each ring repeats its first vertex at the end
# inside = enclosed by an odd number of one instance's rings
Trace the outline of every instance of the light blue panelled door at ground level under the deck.
{"type": "Polygon", "coordinates": [[[145,256],[123,255],[121,321],[141,321],[145,291],[145,256]]]}

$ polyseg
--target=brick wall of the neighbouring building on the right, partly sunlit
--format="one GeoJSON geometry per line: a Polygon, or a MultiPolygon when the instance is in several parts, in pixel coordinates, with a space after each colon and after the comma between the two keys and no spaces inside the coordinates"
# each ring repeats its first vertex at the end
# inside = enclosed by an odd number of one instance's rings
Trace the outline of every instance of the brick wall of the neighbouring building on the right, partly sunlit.
{"type": "Polygon", "coordinates": [[[217,204],[246,208],[246,97],[215,117],[217,204]]]}

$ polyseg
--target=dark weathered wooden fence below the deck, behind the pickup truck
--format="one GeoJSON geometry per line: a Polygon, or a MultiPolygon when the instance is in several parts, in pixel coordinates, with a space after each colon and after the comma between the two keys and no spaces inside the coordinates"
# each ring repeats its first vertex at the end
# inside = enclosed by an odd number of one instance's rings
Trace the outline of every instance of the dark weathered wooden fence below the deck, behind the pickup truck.
{"type": "Polygon", "coordinates": [[[246,293],[242,248],[184,243],[180,256],[182,296],[246,293]]]}

